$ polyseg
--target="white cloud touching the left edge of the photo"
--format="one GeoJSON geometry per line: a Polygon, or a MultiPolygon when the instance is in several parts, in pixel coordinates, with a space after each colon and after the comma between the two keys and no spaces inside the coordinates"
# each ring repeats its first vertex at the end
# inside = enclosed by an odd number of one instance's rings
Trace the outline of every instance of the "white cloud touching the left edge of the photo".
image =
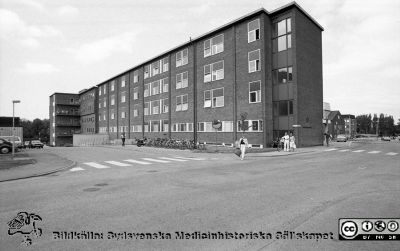
{"type": "Polygon", "coordinates": [[[0,9],[0,38],[16,40],[27,47],[38,47],[38,38],[62,36],[62,33],[50,25],[28,25],[15,12],[0,9]]]}

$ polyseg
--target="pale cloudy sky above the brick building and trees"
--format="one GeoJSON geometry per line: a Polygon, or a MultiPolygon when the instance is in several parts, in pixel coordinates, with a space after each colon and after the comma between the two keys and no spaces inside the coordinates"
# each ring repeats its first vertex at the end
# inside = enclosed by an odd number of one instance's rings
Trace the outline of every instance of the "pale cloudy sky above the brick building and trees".
{"type": "MultiPolygon", "coordinates": [[[[264,7],[290,1],[0,0],[0,116],[49,117],[77,93],[264,7]]],[[[400,1],[296,1],[324,27],[324,101],[400,119],[400,1]]]]}

